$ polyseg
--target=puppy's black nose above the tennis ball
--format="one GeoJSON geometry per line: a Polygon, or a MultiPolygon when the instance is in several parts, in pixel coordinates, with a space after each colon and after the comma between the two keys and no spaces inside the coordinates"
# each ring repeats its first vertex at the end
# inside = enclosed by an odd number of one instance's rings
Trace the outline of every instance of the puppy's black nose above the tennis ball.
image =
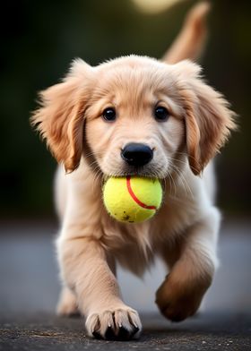
{"type": "Polygon", "coordinates": [[[151,161],[153,152],[149,146],[137,142],[125,145],[121,151],[121,157],[130,166],[144,166],[151,161]]]}

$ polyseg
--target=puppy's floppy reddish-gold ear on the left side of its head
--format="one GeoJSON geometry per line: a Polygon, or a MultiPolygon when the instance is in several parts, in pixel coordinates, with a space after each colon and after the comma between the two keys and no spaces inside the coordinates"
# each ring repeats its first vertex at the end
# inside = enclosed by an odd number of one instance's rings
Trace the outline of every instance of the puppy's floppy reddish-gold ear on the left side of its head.
{"type": "Polygon", "coordinates": [[[82,156],[83,119],[88,100],[87,80],[91,66],[74,61],[64,81],[39,94],[40,107],[33,113],[31,124],[36,126],[57,162],[66,172],[79,166],[82,156]]]}

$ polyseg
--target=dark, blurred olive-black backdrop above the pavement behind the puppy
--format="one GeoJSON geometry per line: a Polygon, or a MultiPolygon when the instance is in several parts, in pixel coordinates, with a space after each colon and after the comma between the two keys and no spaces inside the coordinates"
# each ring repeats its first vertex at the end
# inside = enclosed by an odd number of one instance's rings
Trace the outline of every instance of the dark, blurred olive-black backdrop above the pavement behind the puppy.
{"type": "MultiPolygon", "coordinates": [[[[152,0],[154,1],[154,0],[152,0]]],[[[89,64],[115,56],[160,57],[195,1],[143,13],[131,0],[12,1],[1,4],[0,217],[50,218],[56,162],[29,124],[37,91],[59,81],[71,60],[89,64]]],[[[238,113],[218,158],[219,202],[227,215],[250,212],[251,2],[212,1],[202,64],[207,81],[238,113]]]]}

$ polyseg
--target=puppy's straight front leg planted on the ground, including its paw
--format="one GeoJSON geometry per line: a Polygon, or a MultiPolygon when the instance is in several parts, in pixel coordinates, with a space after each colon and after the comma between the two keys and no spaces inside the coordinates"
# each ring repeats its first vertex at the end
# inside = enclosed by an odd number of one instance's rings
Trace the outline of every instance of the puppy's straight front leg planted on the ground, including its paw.
{"type": "Polygon", "coordinates": [[[138,313],[121,300],[108,254],[91,237],[61,237],[57,242],[63,279],[76,295],[91,337],[137,338],[142,329],[138,313]]]}

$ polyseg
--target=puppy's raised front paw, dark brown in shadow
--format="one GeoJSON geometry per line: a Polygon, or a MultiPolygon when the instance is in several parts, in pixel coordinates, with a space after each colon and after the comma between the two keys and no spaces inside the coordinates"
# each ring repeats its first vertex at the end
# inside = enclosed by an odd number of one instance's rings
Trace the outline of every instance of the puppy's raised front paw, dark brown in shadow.
{"type": "Polygon", "coordinates": [[[198,310],[208,284],[182,285],[166,278],[156,292],[156,304],[170,321],[184,321],[198,310]]]}

